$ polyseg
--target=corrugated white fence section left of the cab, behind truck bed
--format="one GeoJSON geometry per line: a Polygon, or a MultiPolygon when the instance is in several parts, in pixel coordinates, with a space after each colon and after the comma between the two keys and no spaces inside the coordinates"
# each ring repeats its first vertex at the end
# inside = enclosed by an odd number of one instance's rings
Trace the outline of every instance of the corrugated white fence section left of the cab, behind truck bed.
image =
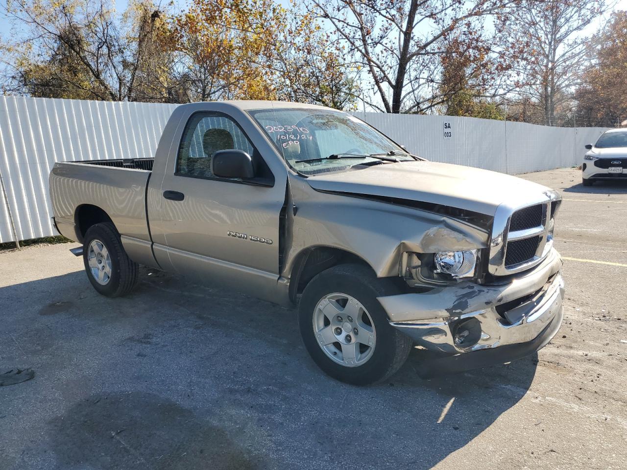
{"type": "MultiPolygon", "coordinates": [[[[0,97],[0,174],[20,240],[56,235],[55,162],[154,157],[176,105],[0,97]]],[[[14,241],[0,191],[0,243],[14,241]]]]}

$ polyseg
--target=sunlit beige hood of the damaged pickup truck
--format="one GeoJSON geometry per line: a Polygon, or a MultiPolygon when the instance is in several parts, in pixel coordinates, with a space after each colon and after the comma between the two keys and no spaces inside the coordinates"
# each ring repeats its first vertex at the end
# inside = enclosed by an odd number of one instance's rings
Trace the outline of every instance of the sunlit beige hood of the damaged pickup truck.
{"type": "Polygon", "coordinates": [[[307,178],[318,191],[442,204],[494,216],[503,202],[537,200],[548,188],[515,176],[461,165],[399,162],[307,178]]]}

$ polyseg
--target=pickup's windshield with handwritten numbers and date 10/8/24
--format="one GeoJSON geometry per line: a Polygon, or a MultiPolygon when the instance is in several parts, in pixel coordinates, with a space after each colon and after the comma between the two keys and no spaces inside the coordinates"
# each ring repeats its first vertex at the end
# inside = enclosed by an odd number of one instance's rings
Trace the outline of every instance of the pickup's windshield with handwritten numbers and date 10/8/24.
{"type": "Polygon", "coordinates": [[[381,132],[348,113],[268,108],[250,115],[265,129],[288,165],[305,175],[414,160],[381,132]]]}

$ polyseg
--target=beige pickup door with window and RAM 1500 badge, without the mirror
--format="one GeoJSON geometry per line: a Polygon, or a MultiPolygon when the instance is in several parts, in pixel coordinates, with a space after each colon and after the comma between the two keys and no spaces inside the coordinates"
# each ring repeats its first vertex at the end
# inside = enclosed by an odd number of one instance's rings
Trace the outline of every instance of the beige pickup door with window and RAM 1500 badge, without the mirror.
{"type": "Polygon", "coordinates": [[[277,171],[274,162],[275,170],[270,169],[258,148],[265,145],[267,152],[270,147],[250,122],[244,123],[245,132],[227,113],[200,111],[183,123],[167,157],[161,190],[155,191],[161,198],[159,221],[151,224],[157,261],[205,283],[273,300],[285,167],[277,171]],[[251,155],[255,178],[225,179],[212,173],[213,154],[229,149],[251,155]]]}

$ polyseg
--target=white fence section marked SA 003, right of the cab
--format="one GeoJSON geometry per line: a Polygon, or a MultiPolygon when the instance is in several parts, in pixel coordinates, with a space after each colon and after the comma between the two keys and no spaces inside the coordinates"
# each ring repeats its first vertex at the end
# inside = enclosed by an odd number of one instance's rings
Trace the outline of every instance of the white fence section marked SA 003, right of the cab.
{"type": "Polygon", "coordinates": [[[354,115],[426,159],[508,174],[581,164],[583,146],[606,130],[451,116],[354,115]],[[445,123],[450,137],[445,136],[445,123]]]}

